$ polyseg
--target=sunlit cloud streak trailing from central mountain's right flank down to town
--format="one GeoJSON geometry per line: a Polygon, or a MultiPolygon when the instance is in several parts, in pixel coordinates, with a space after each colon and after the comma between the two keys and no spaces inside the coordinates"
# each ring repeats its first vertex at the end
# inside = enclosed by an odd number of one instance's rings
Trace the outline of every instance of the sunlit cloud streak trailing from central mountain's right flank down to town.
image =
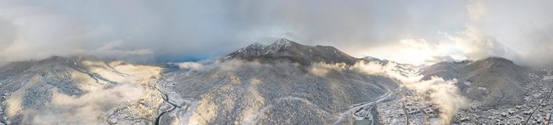
{"type": "Polygon", "coordinates": [[[422,80],[422,75],[405,73],[397,68],[398,64],[390,62],[386,65],[377,61],[359,61],[353,66],[346,64],[314,64],[310,73],[324,76],[330,71],[353,70],[366,75],[384,75],[400,81],[402,87],[413,90],[417,95],[429,97],[431,102],[440,109],[441,123],[450,123],[457,110],[466,108],[471,100],[460,94],[457,79],[444,80],[440,77],[432,77],[422,80]]]}

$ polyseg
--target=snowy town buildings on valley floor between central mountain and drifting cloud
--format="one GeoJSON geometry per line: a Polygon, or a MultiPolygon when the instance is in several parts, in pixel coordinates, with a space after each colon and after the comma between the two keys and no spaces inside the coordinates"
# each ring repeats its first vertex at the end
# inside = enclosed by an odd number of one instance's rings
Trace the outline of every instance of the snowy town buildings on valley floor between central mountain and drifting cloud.
{"type": "Polygon", "coordinates": [[[420,97],[408,96],[376,106],[379,124],[429,124],[438,110],[420,97]]]}

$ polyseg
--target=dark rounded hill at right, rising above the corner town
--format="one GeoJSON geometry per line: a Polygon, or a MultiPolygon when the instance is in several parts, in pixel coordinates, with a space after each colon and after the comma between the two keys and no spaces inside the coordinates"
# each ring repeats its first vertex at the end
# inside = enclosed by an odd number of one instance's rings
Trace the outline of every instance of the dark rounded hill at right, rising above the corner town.
{"type": "Polygon", "coordinates": [[[503,106],[523,101],[525,84],[530,82],[529,70],[504,58],[489,57],[478,61],[442,62],[424,68],[424,78],[432,76],[458,79],[466,97],[482,106],[503,106]]]}

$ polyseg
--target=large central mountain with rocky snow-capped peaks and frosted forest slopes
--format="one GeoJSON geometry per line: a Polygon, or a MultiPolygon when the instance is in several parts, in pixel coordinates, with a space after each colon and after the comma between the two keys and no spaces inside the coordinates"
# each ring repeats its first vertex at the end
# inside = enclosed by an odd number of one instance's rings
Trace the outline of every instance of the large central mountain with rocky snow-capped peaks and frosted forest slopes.
{"type": "Polygon", "coordinates": [[[189,100],[189,108],[176,111],[187,117],[172,118],[181,123],[353,124],[350,118],[342,119],[348,117],[344,111],[388,93],[397,82],[313,64],[360,60],[336,48],[279,39],[270,46],[236,50],[204,66],[207,70],[167,73],[164,82],[176,96],[189,100]],[[314,73],[319,70],[324,74],[314,73]]]}

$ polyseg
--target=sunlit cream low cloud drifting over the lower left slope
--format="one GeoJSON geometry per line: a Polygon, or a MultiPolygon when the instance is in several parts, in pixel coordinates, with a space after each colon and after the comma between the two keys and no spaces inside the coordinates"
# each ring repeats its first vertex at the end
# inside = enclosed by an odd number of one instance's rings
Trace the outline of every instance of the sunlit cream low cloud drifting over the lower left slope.
{"type": "Polygon", "coordinates": [[[53,100],[44,110],[31,111],[32,124],[100,124],[111,108],[131,104],[145,96],[144,88],[122,84],[82,96],[53,91],[53,100]]]}

